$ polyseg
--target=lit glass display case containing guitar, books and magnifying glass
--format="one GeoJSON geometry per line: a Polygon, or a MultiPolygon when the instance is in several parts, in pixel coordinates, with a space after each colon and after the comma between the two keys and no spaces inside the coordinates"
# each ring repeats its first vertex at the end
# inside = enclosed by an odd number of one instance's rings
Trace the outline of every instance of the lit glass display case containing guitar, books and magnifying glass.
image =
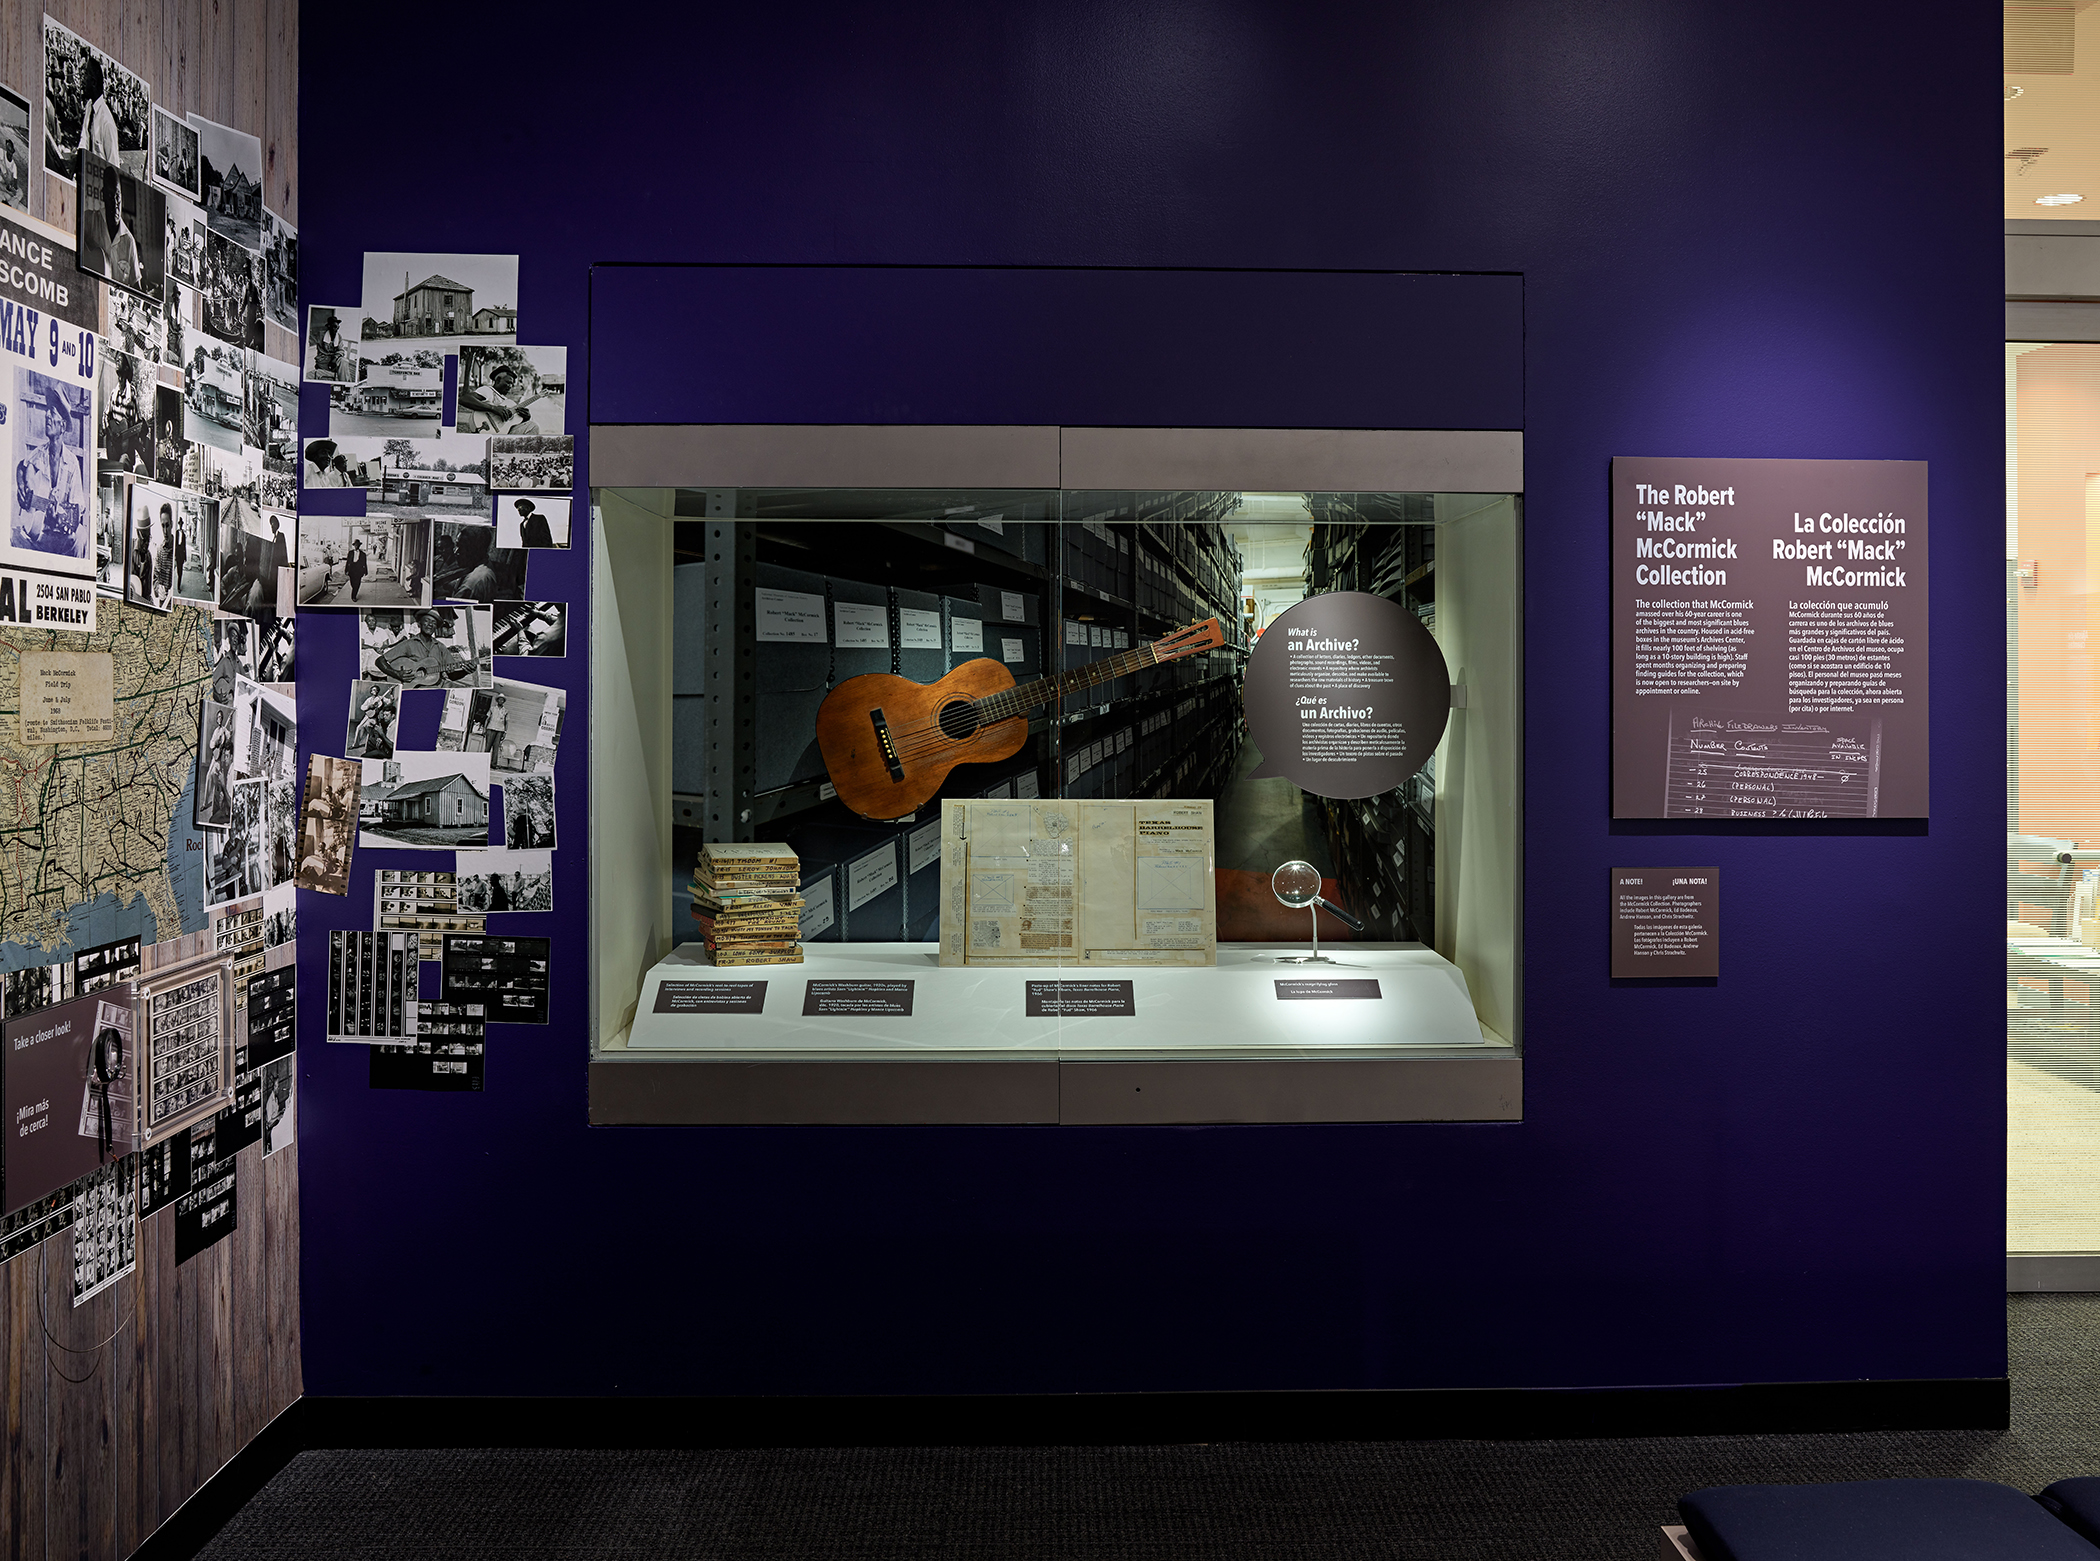
{"type": "Polygon", "coordinates": [[[1518,1116],[1518,496],[592,525],[594,1120],[1518,1116]]]}

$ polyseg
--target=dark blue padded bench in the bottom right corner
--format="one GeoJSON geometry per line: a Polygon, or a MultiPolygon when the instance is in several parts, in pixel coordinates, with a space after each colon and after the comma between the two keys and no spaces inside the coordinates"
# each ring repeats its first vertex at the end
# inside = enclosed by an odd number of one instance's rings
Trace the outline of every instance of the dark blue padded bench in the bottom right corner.
{"type": "Polygon", "coordinates": [[[2039,1498],[1989,1479],[1714,1485],[1678,1500],[1697,1561],[2100,1561],[2100,1479],[2039,1498]]]}

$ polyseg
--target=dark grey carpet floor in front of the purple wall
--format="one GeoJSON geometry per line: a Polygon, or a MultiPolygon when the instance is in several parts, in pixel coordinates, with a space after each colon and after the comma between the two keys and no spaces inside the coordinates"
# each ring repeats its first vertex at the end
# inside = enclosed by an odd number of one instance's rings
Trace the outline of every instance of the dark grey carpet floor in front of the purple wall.
{"type": "Polygon", "coordinates": [[[204,1550],[1651,1561],[1699,1485],[2100,1473],[2100,1296],[2014,1296],[2010,1431],[1623,1441],[309,1452],[204,1550]]]}

